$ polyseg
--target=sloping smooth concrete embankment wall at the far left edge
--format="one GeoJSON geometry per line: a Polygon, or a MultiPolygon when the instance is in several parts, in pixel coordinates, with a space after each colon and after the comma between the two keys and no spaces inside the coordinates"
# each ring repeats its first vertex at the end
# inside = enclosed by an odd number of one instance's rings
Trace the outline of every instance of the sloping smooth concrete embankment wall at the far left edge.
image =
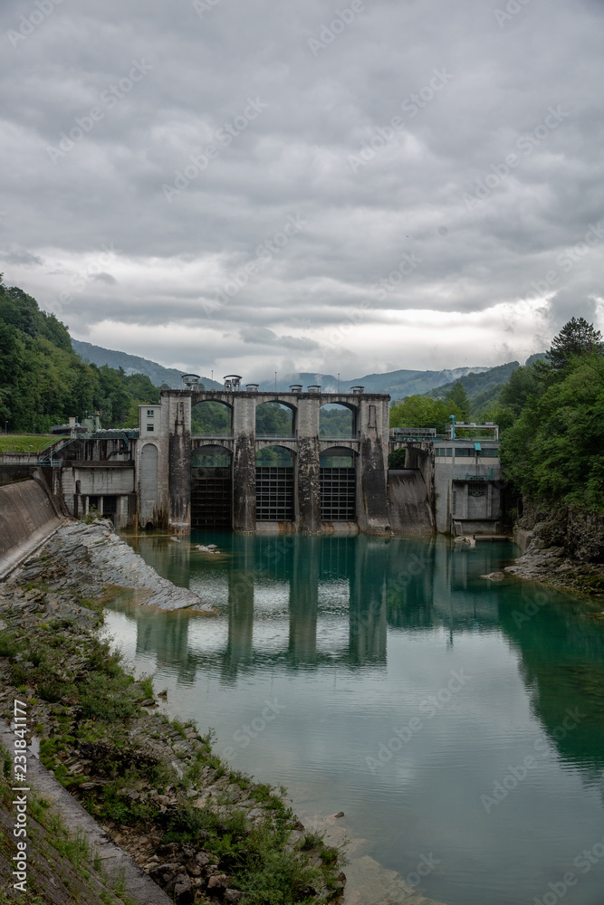
{"type": "Polygon", "coordinates": [[[0,487],[0,578],[62,524],[43,483],[29,478],[0,487]]]}

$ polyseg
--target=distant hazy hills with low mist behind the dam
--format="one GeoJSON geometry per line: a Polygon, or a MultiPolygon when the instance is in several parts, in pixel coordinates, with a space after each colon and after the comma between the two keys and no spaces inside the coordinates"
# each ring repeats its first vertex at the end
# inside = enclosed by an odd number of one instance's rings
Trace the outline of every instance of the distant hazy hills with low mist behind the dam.
{"type": "MultiPolygon", "coordinates": [[[[129,355],[127,352],[120,352],[117,349],[102,348],[94,346],[88,342],[82,342],[79,339],[72,339],[72,347],[82,358],[90,361],[92,364],[101,367],[108,365],[109,367],[123,368],[126,374],[146,374],[155,386],[167,384],[176,389],[180,386],[180,376],[185,371],[179,371],[174,367],[164,367],[156,361],[149,358],[143,358],[138,355],[129,355]]],[[[514,367],[518,367],[518,362],[511,362],[508,365],[500,365],[498,367],[453,367],[443,368],[440,371],[420,371],[412,369],[401,369],[398,371],[389,371],[386,374],[366,374],[364,376],[355,377],[351,380],[340,380],[338,376],[333,374],[316,374],[310,371],[302,371],[300,373],[277,375],[277,390],[289,390],[292,384],[302,384],[304,388],[311,384],[319,384],[324,391],[348,392],[351,386],[364,386],[369,393],[388,393],[393,399],[400,399],[406,395],[423,394],[430,390],[437,390],[440,387],[454,384],[456,380],[465,378],[468,375],[481,375],[496,372],[493,380],[489,381],[484,387],[493,386],[496,383],[507,379],[503,376],[503,368],[509,368],[510,373],[514,367]]],[[[205,375],[201,376],[201,382],[206,389],[220,389],[223,384],[219,381],[212,380],[205,375]]],[[[254,376],[244,376],[244,383],[248,381],[252,383],[254,376]]],[[[274,390],[274,380],[264,380],[259,384],[261,390],[274,390]]]]}

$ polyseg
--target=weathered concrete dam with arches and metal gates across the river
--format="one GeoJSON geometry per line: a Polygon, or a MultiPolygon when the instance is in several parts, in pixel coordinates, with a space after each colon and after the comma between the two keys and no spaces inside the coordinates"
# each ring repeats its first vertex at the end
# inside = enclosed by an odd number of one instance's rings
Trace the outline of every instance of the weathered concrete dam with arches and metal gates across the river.
{"type": "MultiPolygon", "coordinates": [[[[137,428],[72,431],[34,462],[25,455],[2,460],[37,469],[72,516],[86,518],[94,510],[117,529],[496,532],[499,443],[390,431],[389,403],[388,395],[365,393],[362,386],[350,393],[299,385],[261,392],[231,375],[223,390],[207,391],[197,376],[186,375],[180,389],[162,391],[158,405],[140,406],[137,428]],[[192,412],[200,404],[225,413],[220,429],[199,430],[192,412]],[[278,432],[260,430],[259,412],[275,404],[289,413],[288,428],[282,419],[278,432]],[[324,407],[349,412],[350,430],[340,422],[326,435],[320,429],[324,407]],[[388,471],[388,454],[401,449],[404,468],[388,471]]],[[[3,500],[6,523],[24,524],[25,518],[37,530],[37,515],[18,516],[13,497],[3,500]]]]}

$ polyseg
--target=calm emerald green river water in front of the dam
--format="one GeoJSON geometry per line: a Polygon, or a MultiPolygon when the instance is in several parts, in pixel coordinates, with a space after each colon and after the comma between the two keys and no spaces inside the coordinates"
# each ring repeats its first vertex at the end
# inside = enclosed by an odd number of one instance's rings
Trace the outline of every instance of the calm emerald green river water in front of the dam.
{"type": "Polygon", "coordinates": [[[129,542],[219,614],[121,607],[110,631],[234,767],[288,786],[307,822],[344,811],[412,883],[425,856],[418,891],[446,905],[601,905],[602,598],[481,577],[506,543],[129,542]]]}

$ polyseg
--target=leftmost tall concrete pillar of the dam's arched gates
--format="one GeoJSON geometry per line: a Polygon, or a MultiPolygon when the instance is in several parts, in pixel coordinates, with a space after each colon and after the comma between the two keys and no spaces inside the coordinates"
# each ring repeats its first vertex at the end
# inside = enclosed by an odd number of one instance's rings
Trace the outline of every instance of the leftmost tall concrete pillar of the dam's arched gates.
{"type": "Polygon", "coordinates": [[[168,528],[191,528],[191,399],[175,400],[168,447],[168,528]]]}

